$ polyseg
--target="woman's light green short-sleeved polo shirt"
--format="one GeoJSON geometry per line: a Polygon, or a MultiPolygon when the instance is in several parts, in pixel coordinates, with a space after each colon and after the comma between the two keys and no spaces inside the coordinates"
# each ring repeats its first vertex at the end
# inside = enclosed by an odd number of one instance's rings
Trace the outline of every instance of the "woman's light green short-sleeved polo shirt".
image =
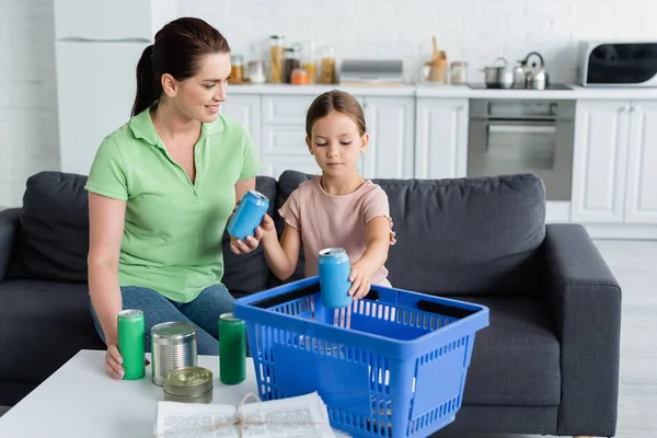
{"type": "Polygon", "coordinates": [[[221,238],[234,185],[260,170],[253,140],[234,118],[203,124],[196,181],[166,152],[148,110],[101,143],[85,188],[126,201],[120,286],[142,286],[189,302],[223,276],[221,238]]]}

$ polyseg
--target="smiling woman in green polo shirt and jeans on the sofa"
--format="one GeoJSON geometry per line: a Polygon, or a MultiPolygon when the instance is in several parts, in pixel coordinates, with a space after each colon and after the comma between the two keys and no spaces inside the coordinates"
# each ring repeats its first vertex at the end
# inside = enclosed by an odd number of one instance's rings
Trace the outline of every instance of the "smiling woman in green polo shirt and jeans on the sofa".
{"type": "MultiPolygon", "coordinates": [[[[94,159],[85,186],[89,290],[107,345],[105,368],[115,379],[124,376],[122,309],[143,311],[147,350],[153,325],[187,321],[197,325],[198,354],[218,354],[218,318],[233,307],[221,284],[221,237],[260,169],[246,129],[219,115],[229,51],[203,20],[166,24],[137,65],[132,117],[94,159]]],[[[253,251],[262,232],[231,242],[232,251],[253,251]]]]}

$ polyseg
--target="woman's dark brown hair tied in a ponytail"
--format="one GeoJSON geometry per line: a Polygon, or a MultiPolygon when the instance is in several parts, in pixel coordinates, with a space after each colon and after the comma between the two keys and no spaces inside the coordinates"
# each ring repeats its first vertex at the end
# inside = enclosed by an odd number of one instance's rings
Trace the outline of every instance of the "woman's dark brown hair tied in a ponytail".
{"type": "Polygon", "coordinates": [[[132,116],[152,106],[162,94],[162,74],[177,80],[196,74],[207,55],[228,54],[228,42],[215,27],[200,19],[182,18],[155,34],[155,42],[141,54],[137,64],[137,95],[132,116]]]}

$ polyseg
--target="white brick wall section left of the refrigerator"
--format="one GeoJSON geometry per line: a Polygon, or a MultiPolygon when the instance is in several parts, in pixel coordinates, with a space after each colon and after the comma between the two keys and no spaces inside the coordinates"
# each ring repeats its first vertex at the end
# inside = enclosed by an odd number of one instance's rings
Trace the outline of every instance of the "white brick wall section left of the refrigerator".
{"type": "Polygon", "coordinates": [[[53,0],[0,0],[0,207],[59,169],[53,0]]]}

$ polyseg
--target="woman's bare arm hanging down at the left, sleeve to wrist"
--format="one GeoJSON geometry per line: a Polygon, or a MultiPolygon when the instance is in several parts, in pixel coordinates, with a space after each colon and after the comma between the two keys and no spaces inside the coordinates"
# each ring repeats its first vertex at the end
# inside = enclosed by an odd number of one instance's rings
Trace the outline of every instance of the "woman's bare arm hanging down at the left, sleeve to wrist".
{"type": "Polygon", "coordinates": [[[107,346],[118,342],[116,318],[122,310],[118,256],[126,203],[89,193],[89,292],[107,346]]]}

